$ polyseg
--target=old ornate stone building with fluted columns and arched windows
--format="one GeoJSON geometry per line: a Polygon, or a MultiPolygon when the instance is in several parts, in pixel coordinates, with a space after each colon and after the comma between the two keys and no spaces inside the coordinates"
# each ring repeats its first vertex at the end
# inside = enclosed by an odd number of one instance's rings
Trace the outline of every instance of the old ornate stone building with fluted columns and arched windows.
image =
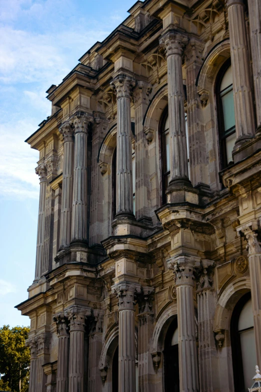
{"type": "Polygon", "coordinates": [[[243,392],[261,366],[261,2],[137,1],[39,151],[30,392],[243,392]]]}

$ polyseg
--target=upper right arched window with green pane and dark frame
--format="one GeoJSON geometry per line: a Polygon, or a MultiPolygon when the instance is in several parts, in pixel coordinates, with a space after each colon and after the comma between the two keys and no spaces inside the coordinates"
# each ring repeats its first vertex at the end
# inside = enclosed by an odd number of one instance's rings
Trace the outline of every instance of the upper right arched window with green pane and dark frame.
{"type": "Polygon", "coordinates": [[[235,144],[235,117],[233,100],[233,81],[230,59],[221,67],[216,83],[216,104],[220,143],[221,169],[232,162],[235,144]]]}

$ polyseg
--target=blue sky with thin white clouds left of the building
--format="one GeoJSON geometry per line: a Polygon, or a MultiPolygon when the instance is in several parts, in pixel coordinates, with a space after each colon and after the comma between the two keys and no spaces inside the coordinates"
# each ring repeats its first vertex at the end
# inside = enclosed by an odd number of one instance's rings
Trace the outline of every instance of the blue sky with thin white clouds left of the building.
{"type": "Polygon", "coordinates": [[[24,140],[50,115],[45,91],[126,17],[134,0],[0,0],[0,326],[34,276],[38,152],[24,140]]]}

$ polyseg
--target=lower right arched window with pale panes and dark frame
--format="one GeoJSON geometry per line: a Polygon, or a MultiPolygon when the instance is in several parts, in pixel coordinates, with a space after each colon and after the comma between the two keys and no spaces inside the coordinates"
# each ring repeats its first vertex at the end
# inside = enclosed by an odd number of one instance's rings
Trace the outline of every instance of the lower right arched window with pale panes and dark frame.
{"type": "Polygon", "coordinates": [[[251,295],[239,299],[231,318],[231,348],[233,360],[234,390],[246,392],[252,385],[252,373],[256,365],[251,295]]]}

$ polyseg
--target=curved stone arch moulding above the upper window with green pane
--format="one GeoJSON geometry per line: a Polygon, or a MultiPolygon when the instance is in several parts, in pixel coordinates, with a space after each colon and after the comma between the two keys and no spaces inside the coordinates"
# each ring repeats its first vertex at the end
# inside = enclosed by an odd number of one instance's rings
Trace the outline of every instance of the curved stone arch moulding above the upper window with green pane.
{"type": "Polygon", "coordinates": [[[199,70],[196,86],[203,105],[206,105],[210,92],[213,92],[215,77],[224,62],[230,57],[229,39],[215,45],[207,54],[199,70]]]}

